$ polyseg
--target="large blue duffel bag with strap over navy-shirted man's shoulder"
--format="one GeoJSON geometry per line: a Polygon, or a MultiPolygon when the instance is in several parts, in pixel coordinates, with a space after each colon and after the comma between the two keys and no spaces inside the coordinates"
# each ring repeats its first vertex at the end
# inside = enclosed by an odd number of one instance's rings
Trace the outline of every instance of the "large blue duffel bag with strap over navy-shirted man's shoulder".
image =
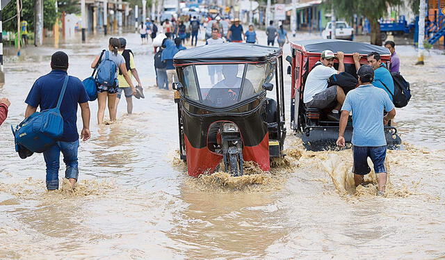
{"type": "Polygon", "coordinates": [[[60,115],[60,104],[62,104],[69,77],[68,75],[65,76],[55,108],[33,113],[18,124],[15,129],[11,126],[15,138],[16,152],[19,152],[20,145],[31,152],[44,152],[56,143],[57,138],[63,135],[63,117],[60,115]]]}

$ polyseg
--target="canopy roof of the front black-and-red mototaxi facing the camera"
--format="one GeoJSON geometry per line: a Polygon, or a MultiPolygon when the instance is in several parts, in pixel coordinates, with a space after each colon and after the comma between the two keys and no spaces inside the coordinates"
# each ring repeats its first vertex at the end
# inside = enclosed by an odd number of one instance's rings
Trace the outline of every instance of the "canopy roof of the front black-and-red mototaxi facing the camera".
{"type": "Polygon", "coordinates": [[[281,49],[277,47],[229,42],[208,44],[179,51],[173,58],[173,63],[177,65],[245,61],[261,63],[273,60],[281,54],[281,49]]]}

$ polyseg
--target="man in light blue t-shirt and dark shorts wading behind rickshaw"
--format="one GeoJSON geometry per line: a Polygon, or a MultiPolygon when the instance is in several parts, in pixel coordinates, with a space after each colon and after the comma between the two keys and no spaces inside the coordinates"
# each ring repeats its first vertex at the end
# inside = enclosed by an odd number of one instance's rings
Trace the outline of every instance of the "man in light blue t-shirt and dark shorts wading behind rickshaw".
{"type": "Polygon", "coordinates": [[[359,86],[346,95],[341,108],[339,138],[337,145],[345,146],[343,137],[348,124],[349,113],[353,113],[353,159],[355,186],[363,183],[363,177],[371,172],[368,157],[374,165],[374,172],[378,179],[378,195],[385,193],[387,184],[387,170],[385,157],[387,154],[387,140],[383,125],[396,116],[396,109],[385,91],[375,88],[371,84],[374,78],[373,67],[363,65],[357,71],[359,86]],[[383,116],[383,111],[387,115],[383,116]]]}

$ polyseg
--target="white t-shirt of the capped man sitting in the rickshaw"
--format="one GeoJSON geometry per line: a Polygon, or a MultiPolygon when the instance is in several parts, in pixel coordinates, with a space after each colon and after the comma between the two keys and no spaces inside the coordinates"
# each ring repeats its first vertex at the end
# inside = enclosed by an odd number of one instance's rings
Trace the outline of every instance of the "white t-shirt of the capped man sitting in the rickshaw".
{"type": "Polygon", "coordinates": [[[307,75],[303,102],[307,103],[312,101],[314,95],[325,90],[327,88],[327,79],[337,73],[337,70],[333,67],[327,67],[323,64],[314,67],[314,69],[309,72],[309,75],[307,75]]]}

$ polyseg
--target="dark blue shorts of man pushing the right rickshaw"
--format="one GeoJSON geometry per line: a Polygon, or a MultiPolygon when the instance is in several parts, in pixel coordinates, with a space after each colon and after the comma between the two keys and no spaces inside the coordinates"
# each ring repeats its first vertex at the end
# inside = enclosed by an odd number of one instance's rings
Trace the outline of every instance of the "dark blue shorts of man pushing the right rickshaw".
{"type": "Polygon", "coordinates": [[[387,172],[385,168],[385,158],[387,156],[387,146],[353,146],[354,167],[355,174],[365,175],[371,172],[368,165],[368,157],[374,164],[374,172],[387,172]]]}

